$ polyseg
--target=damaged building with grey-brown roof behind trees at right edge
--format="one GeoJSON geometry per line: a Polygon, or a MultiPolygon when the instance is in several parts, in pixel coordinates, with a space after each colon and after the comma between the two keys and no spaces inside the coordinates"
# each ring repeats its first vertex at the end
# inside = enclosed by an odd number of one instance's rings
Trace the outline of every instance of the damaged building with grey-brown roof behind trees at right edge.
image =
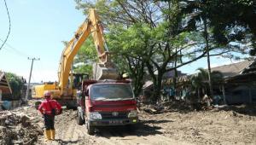
{"type": "MultiPolygon", "coordinates": [[[[207,71],[207,70],[206,70],[207,71]]],[[[212,72],[222,74],[221,81],[213,84],[213,96],[220,96],[224,103],[241,104],[256,102],[256,61],[240,61],[229,65],[212,67],[212,72]]],[[[201,98],[207,93],[207,77],[202,80],[202,91],[193,89],[192,79],[197,74],[176,78],[175,98],[177,100],[201,98]]],[[[164,85],[173,85],[173,78],[163,81],[164,85]]],[[[208,88],[207,88],[208,89],[208,88]]]]}

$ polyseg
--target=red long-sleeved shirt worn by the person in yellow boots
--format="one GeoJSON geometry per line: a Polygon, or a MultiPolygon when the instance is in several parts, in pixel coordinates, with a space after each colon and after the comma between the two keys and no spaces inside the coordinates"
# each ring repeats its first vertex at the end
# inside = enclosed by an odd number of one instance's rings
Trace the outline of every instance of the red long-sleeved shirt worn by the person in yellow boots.
{"type": "Polygon", "coordinates": [[[61,111],[61,104],[56,102],[55,100],[51,100],[49,98],[45,99],[44,102],[40,104],[38,110],[43,114],[51,115],[51,110],[55,108],[56,112],[61,111]]]}

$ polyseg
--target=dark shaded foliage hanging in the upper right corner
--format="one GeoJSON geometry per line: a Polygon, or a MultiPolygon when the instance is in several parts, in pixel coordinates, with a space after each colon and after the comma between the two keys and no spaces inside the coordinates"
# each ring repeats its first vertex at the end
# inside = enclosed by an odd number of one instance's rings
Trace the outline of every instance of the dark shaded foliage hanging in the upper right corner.
{"type": "MultiPolygon", "coordinates": [[[[241,53],[245,51],[245,45],[247,49],[256,48],[255,1],[195,0],[182,2],[185,3],[183,14],[190,15],[187,30],[198,31],[201,20],[207,20],[207,26],[211,29],[209,30],[211,38],[215,41],[214,47],[225,47],[224,49],[241,53]],[[236,45],[232,45],[231,42],[236,42],[236,45]]],[[[245,52],[248,53],[248,50],[245,52]]],[[[251,50],[251,55],[253,54],[251,50]]]]}

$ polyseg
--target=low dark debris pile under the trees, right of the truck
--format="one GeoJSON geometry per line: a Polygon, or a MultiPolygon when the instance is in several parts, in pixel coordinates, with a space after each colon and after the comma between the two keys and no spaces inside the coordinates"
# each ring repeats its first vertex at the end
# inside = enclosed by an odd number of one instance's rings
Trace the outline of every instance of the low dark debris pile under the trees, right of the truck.
{"type": "Polygon", "coordinates": [[[200,102],[184,102],[184,101],[170,101],[159,102],[155,105],[140,104],[140,110],[146,113],[166,113],[166,112],[191,112],[205,110],[206,106],[200,102]]]}

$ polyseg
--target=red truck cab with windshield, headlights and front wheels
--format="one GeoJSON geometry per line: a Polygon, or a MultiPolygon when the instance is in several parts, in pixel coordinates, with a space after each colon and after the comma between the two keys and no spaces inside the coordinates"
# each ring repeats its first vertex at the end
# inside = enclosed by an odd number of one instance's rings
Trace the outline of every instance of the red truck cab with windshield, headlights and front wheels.
{"type": "Polygon", "coordinates": [[[78,124],[86,125],[88,134],[97,126],[135,125],[137,102],[131,84],[90,82],[85,84],[78,103],[78,124]]]}

